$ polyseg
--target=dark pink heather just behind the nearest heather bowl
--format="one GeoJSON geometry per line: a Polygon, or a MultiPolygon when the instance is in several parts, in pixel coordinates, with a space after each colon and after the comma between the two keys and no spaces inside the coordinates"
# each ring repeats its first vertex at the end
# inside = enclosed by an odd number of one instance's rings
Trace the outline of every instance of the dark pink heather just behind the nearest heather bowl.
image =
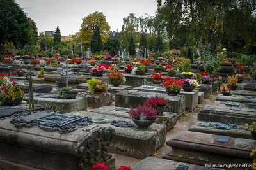
{"type": "Polygon", "coordinates": [[[150,97],[145,101],[145,105],[151,108],[154,108],[157,110],[157,115],[162,115],[166,104],[169,103],[168,99],[165,99],[164,97],[156,96],[156,97],[150,97]]]}

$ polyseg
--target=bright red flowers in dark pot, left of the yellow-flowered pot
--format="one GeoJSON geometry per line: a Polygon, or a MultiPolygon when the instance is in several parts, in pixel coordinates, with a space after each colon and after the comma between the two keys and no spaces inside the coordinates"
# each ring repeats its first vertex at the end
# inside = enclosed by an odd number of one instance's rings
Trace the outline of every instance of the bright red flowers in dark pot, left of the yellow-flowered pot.
{"type": "Polygon", "coordinates": [[[164,87],[168,95],[176,96],[179,94],[182,83],[180,80],[176,80],[170,77],[166,77],[164,80],[164,87]]]}

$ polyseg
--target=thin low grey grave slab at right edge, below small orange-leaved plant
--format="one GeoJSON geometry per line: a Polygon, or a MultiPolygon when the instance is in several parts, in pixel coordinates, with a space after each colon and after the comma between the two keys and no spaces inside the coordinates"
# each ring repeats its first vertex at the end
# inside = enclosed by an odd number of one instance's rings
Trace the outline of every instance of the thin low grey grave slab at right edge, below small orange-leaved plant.
{"type": "Polygon", "coordinates": [[[239,103],[256,103],[256,97],[253,96],[224,96],[223,94],[218,94],[216,101],[232,101],[232,102],[239,102],[239,103]]]}

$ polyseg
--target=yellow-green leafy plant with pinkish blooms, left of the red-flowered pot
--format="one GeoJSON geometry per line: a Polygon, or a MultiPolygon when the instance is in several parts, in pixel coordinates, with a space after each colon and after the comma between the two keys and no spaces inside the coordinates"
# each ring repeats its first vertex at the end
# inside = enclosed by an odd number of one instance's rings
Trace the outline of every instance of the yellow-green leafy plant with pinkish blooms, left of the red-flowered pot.
{"type": "Polygon", "coordinates": [[[102,80],[91,78],[90,80],[87,80],[87,83],[89,84],[88,90],[90,90],[91,94],[94,94],[95,91],[100,91],[100,90],[104,90],[104,92],[108,92],[108,85],[106,83],[103,83],[102,80]]]}

